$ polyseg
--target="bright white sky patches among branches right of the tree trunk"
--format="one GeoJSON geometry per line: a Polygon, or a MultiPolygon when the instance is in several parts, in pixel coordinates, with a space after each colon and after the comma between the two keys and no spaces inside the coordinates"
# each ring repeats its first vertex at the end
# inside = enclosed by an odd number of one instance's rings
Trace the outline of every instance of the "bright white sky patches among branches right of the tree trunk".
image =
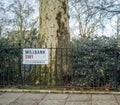
{"type": "MultiPolygon", "coordinates": [[[[114,36],[116,33],[116,21],[117,21],[116,17],[112,18],[111,20],[108,19],[104,23],[104,28],[97,29],[94,34],[98,36],[102,36],[102,35],[108,37],[114,36]]],[[[69,25],[70,25],[71,36],[78,37],[79,34],[78,22],[75,19],[70,19],[69,25]]]]}

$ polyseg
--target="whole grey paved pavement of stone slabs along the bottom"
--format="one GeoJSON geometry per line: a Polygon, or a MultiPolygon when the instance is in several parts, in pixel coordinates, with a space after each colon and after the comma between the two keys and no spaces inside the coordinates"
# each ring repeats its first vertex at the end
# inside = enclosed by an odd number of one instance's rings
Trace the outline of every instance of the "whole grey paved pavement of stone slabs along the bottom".
{"type": "Polygon", "coordinates": [[[120,94],[0,92],[0,105],[120,105],[120,94]]]}

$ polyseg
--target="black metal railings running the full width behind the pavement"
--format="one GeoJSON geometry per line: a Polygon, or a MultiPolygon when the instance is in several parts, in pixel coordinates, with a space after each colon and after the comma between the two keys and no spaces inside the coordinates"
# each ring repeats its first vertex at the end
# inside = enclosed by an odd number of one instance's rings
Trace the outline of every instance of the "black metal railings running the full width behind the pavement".
{"type": "Polygon", "coordinates": [[[0,86],[118,89],[119,49],[48,48],[48,65],[23,65],[22,48],[0,46],[0,86]]]}

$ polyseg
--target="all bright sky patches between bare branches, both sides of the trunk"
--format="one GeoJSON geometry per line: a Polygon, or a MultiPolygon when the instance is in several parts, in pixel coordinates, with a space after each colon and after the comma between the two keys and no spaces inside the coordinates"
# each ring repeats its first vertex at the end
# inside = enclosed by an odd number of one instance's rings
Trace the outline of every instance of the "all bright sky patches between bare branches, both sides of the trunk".
{"type": "MultiPolygon", "coordinates": [[[[9,3],[12,3],[11,1],[12,0],[1,0],[0,2],[4,3],[4,6],[7,7],[9,5],[9,3]]],[[[93,2],[93,1],[94,0],[92,0],[91,2],[93,2]]],[[[39,11],[38,11],[39,4],[38,4],[37,0],[30,0],[29,3],[35,9],[35,13],[33,15],[31,15],[31,17],[30,17],[31,19],[34,19],[34,18],[36,18],[39,15],[39,11]]],[[[0,16],[1,15],[2,14],[0,14],[0,16]]],[[[13,15],[7,13],[4,16],[5,16],[5,18],[8,18],[8,17],[12,17],[13,15]]],[[[70,14],[70,16],[71,16],[71,14],[70,14]]],[[[115,31],[116,31],[115,27],[113,27],[115,25],[116,25],[116,18],[113,18],[112,21],[106,21],[104,30],[99,29],[98,31],[96,31],[95,34],[112,36],[115,33],[115,31]]],[[[75,19],[73,19],[73,18],[72,19],[70,18],[70,20],[69,20],[69,26],[70,26],[71,36],[72,37],[77,37],[78,34],[79,34],[77,21],[75,19]]],[[[10,29],[13,29],[13,27],[7,25],[6,27],[4,27],[3,33],[6,32],[6,31],[8,31],[8,30],[10,30],[10,29]]]]}

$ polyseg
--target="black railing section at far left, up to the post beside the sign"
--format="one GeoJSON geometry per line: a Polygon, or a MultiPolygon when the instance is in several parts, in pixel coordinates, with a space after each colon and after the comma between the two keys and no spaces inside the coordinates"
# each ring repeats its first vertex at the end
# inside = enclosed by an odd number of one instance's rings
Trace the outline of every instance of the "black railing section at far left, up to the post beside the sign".
{"type": "Polygon", "coordinates": [[[0,45],[0,86],[19,85],[21,81],[21,46],[0,45]]]}

